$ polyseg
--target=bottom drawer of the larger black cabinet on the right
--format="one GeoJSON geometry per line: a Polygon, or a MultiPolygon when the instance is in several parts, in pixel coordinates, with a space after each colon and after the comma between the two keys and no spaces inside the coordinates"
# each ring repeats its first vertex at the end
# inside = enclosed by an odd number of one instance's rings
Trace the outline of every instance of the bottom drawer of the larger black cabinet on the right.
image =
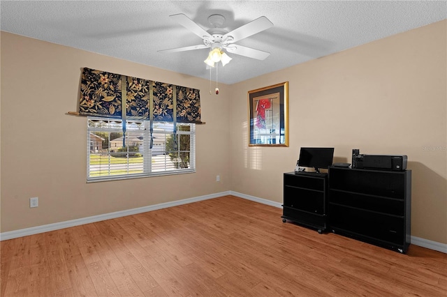
{"type": "Polygon", "coordinates": [[[404,218],[330,203],[330,227],[398,245],[405,242],[404,218]]]}

